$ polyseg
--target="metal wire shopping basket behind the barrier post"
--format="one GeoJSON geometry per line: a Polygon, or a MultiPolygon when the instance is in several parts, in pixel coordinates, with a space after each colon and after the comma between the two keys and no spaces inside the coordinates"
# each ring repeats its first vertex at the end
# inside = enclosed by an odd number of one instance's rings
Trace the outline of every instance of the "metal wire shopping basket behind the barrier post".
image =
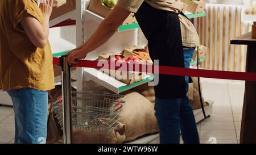
{"type": "MultiPolygon", "coordinates": [[[[125,106],[125,96],[117,94],[94,94],[72,92],[72,127],[86,132],[108,134],[118,125],[125,106]]],[[[58,123],[63,128],[63,102],[59,97],[53,103],[58,123]]]]}

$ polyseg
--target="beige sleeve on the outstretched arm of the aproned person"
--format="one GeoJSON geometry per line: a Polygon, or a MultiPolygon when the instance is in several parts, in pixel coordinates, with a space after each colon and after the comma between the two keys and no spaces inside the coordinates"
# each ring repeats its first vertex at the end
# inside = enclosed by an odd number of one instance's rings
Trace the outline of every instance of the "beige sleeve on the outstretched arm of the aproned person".
{"type": "Polygon", "coordinates": [[[130,12],[137,12],[144,0],[118,0],[117,6],[130,12]]]}

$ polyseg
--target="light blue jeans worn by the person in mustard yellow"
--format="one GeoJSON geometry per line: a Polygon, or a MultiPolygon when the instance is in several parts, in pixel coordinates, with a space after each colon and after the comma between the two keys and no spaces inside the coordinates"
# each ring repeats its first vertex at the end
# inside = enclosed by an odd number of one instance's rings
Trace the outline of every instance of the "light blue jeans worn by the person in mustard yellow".
{"type": "Polygon", "coordinates": [[[13,100],[15,144],[44,144],[47,136],[48,93],[36,89],[7,91],[13,100]]]}

